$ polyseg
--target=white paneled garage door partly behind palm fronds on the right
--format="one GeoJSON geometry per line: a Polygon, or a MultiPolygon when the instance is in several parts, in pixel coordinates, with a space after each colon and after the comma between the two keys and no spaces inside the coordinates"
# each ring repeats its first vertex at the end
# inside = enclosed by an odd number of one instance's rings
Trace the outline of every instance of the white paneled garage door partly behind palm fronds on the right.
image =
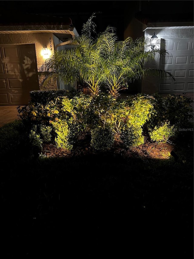
{"type": "Polygon", "coordinates": [[[193,81],[193,39],[165,39],[165,48],[172,53],[172,58],[160,58],[160,69],[172,73],[176,83],[170,78],[159,84],[159,93],[191,93],[193,81]]]}

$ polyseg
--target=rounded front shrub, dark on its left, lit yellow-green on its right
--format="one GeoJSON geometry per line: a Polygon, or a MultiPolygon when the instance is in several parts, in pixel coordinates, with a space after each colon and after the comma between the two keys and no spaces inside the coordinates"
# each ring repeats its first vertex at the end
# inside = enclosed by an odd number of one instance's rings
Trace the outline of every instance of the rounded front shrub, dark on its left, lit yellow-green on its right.
{"type": "Polygon", "coordinates": [[[120,139],[126,148],[142,145],[144,137],[140,126],[131,125],[121,130],[120,139]]]}

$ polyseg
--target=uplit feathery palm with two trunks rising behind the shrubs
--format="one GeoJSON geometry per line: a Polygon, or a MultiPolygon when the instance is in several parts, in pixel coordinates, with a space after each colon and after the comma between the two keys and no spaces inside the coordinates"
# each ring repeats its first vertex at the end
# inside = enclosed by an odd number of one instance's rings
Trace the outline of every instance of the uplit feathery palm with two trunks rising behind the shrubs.
{"type": "Polygon", "coordinates": [[[83,25],[81,35],[71,40],[72,49],[55,51],[51,59],[43,63],[39,69],[42,85],[59,77],[65,84],[80,80],[88,85],[92,95],[98,95],[105,85],[116,98],[125,82],[141,80],[148,75],[170,76],[175,81],[168,71],[144,67],[146,62],[159,56],[171,57],[166,49],[152,49],[151,39],[144,37],[118,41],[115,28],[111,26],[97,35],[94,18],[95,13],[83,25]]]}

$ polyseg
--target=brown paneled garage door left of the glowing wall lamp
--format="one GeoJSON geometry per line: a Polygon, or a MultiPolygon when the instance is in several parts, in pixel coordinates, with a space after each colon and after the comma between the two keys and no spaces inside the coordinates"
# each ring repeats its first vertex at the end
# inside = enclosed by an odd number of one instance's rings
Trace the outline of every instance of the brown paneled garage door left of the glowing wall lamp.
{"type": "Polygon", "coordinates": [[[35,44],[0,45],[0,105],[26,105],[39,90],[35,44]]]}

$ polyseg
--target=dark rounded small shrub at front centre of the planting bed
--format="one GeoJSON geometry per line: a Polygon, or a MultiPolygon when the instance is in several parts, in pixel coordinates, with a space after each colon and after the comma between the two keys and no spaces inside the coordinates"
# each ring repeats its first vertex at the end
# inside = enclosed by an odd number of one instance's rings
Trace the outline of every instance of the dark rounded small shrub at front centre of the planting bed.
{"type": "Polygon", "coordinates": [[[110,128],[98,127],[91,131],[91,146],[98,151],[107,151],[113,147],[114,134],[110,128]]]}

